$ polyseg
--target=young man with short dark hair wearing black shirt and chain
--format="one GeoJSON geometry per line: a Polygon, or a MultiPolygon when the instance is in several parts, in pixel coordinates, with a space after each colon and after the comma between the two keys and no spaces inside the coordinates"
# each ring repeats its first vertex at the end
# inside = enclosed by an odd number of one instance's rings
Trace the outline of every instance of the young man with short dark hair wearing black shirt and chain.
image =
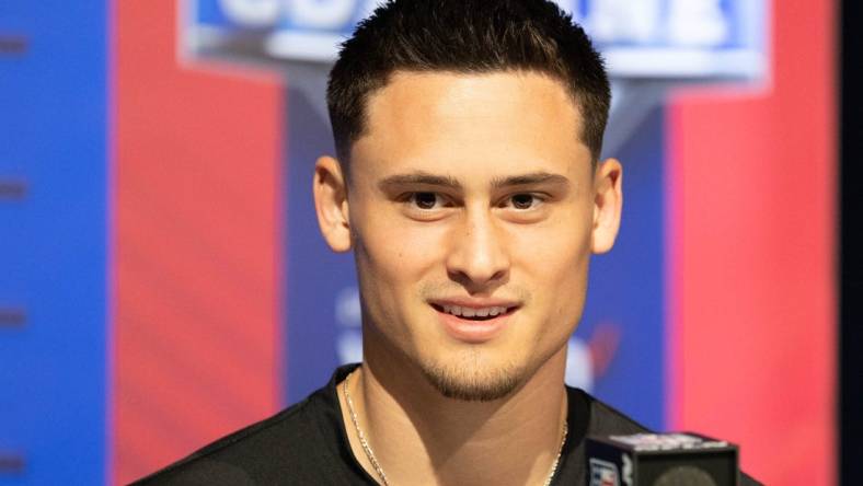
{"type": "Polygon", "coordinates": [[[395,0],[341,51],[321,231],[353,251],[364,362],[145,484],[584,484],[585,437],[645,429],[564,386],[622,167],[610,91],[544,0],[395,0]]]}

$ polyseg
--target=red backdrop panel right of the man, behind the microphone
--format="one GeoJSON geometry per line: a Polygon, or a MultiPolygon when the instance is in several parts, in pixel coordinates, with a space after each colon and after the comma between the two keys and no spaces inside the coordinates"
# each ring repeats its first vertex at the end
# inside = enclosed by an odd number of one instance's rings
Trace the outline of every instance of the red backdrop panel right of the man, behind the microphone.
{"type": "Polygon", "coordinates": [[[833,2],[773,2],[772,74],[670,109],[669,425],[835,483],[833,2]]]}

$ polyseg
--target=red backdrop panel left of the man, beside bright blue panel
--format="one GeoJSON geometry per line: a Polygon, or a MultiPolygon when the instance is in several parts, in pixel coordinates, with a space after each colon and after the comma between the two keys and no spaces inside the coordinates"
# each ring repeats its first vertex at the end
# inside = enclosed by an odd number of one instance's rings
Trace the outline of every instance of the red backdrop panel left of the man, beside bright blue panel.
{"type": "Polygon", "coordinates": [[[281,89],[176,58],[174,1],[115,9],[114,479],[280,402],[281,89]]]}

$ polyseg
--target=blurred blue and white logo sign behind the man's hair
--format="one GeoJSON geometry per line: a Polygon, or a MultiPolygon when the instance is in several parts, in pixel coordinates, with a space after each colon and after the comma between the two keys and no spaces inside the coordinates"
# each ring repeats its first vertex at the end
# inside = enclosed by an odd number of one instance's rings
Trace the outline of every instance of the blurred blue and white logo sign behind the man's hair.
{"type": "MultiPolygon", "coordinates": [[[[380,0],[187,0],[184,49],[284,63],[332,61],[380,0]]],[[[557,0],[617,77],[759,77],[763,0],[557,0]]]]}

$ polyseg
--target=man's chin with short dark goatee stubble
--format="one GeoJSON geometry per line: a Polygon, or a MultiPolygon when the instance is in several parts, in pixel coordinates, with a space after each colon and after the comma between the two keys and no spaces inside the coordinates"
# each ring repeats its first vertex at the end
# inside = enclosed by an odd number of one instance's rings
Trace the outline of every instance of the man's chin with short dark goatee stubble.
{"type": "Polygon", "coordinates": [[[464,402],[492,402],[513,393],[526,380],[527,367],[490,360],[480,350],[419,362],[426,380],[441,395],[464,402]]]}

